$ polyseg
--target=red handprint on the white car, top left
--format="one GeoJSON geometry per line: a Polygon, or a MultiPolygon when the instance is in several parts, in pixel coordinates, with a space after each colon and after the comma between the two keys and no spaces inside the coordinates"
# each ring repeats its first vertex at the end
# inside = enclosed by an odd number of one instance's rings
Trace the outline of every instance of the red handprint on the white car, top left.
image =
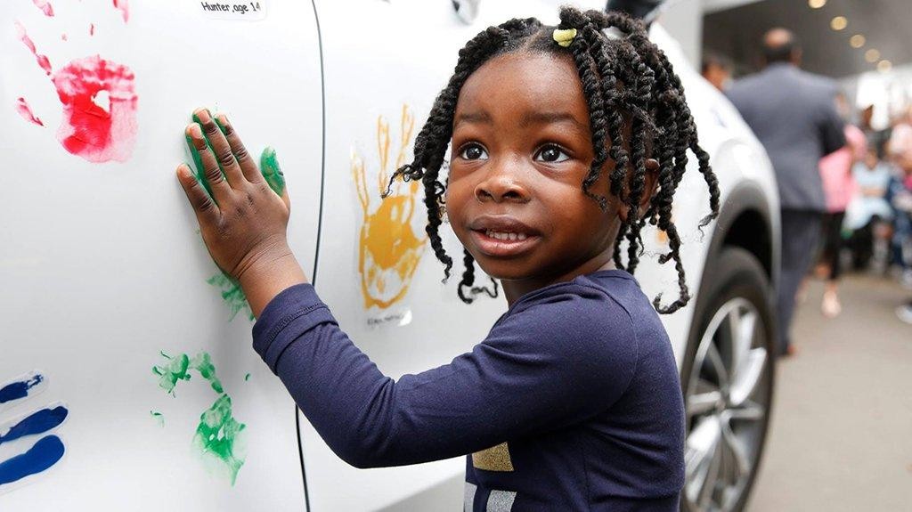
{"type": "MultiPolygon", "coordinates": [[[[47,2],[36,2],[45,11],[47,2]]],[[[114,7],[128,20],[127,2],[115,0],[114,7]]],[[[137,103],[135,77],[130,67],[104,59],[101,56],[77,58],[53,71],[47,56],[38,53],[35,42],[26,33],[26,28],[16,22],[19,39],[36,58],[36,63],[57,89],[57,97],[63,108],[63,118],[57,128],[57,139],[73,155],[90,162],[101,163],[116,160],[125,162],[133,154],[136,142],[137,103]]],[[[94,35],[94,25],[89,36],[94,35]]],[[[64,37],[67,40],[67,37],[64,37]]],[[[40,118],[28,105],[25,97],[19,97],[16,110],[27,121],[44,126],[40,118]]]]}

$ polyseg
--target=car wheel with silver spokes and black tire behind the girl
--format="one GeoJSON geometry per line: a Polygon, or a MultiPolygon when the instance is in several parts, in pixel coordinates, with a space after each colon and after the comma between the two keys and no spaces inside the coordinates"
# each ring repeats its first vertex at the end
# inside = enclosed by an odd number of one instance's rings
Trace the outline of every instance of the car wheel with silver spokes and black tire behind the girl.
{"type": "Polygon", "coordinates": [[[681,371],[687,415],[681,508],[740,511],[772,405],[775,328],[769,279],[748,251],[726,247],[704,276],[681,371]]]}

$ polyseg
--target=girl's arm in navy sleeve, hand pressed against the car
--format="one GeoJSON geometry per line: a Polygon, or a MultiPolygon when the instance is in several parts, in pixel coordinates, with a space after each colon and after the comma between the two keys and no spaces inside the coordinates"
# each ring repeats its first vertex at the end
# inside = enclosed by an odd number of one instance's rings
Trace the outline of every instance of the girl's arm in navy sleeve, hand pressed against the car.
{"type": "Polygon", "coordinates": [[[399,382],[381,374],[305,284],[285,239],[285,190],[270,189],[227,119],[220,129],[207,110],[195,118],[186,133],[203,176],[181,165],[178,177],[202,239],[259,317],[254,348],[350,464],[465,455],[583,421],[627,389],[640,358],[630,315],[604,292],[570,284],[514,304],[451,364],[399,382]]]}

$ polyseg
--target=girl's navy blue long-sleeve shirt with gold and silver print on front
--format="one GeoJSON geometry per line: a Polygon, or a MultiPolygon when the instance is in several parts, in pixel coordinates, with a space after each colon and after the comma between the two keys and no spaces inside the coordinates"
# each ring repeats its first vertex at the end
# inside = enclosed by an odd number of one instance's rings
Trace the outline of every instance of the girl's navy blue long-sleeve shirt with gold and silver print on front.
{"type": "Polygon", "coordinates": [[[358,350],[309,284],[269,303],[254,349],[352,466],[471,454],[466,510],[678,510],[678,368],[625,271],[530,292],[471,353],[399,381],[358,350]]]}

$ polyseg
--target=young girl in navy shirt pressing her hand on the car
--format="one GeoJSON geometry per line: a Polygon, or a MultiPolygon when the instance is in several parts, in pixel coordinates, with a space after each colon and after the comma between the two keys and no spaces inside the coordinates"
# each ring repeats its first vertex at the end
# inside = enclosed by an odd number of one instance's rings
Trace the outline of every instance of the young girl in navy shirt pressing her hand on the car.
{"type": "Polygon", "coordinates": [[[186,133],[212,196],[187,166],[178,176],[203,240],[259,319],[254,349],[338,456],[371,467],[472,454],[467,510],[678,510],[678,369],[631,273],[641,228],[658,223],[680,293],[655,308],[687,303],[671,204],[688,149],[710,186],[704,225],[719,190],[679,79],[643,26],[565,7],[556,28],[513,19],[461,50],[414,161],[393,179],[423,182],[448,276],[449,219],[465,248],[461,298],[480,292],[477,261],[509,309],[472,353],[398,382],[306,284],[285,241],[284,188],[280,199],[228,119],[195,115],[186,133]]]}

